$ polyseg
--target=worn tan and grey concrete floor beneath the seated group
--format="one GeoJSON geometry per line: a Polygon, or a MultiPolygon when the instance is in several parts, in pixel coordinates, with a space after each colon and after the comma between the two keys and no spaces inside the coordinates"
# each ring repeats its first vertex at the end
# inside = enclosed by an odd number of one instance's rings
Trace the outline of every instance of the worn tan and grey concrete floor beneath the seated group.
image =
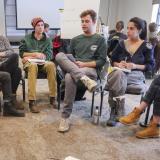
{"type": "MultiPolygon", "coordinates": [[[[135,132],[141,129],[139,125],[106,127],[108,95],[104,97],[98,126],[92,124],[91,94],[87,92],[86,101],[75,102],[70,132],[62,134],[57,132],[60,112],[49,106],[47,81],[38,80],[37,90],[40,114],[30,113],[28,102],[25,102],[25,118],[0,117],[0,160],[64,160],[67,156],[80,160],[159,160],[160,139],[135,138],[135,132]]],[[[19,100],[21,93],[20,86],[19,100]]],[[[127,95],[127,112],[139,100],[140,96],[127,95]]],[[[97,95],[95,105],[98,102],[97,95]]]]}

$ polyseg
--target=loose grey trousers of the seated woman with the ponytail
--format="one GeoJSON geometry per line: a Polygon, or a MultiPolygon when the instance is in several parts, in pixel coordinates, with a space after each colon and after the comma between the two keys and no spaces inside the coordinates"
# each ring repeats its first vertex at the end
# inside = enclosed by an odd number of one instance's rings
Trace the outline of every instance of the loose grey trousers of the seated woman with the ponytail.
{"type": "Polygon", "coordinates": [[[141,71],[125,73],[121,70],[114,70],[108,75],[107,81],[109,89],[108,103],[110,107],[116,105],[113,97],[125,95],[127,88],[132,88],[134,93],[137,93],[139,90],[146,90],[145,77],[141,71]]]}

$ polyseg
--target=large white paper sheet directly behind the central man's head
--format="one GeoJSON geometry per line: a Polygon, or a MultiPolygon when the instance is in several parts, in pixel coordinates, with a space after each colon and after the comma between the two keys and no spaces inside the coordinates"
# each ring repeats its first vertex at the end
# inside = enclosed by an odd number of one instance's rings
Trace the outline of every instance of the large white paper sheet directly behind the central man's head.
{"type": "Polygon", "coordinates": [[[80,13],[93,9],[99,11],[100,0],[64,0],[64,11],[61,17],[61,37],[71,39],[82,33],[80,13]]]}

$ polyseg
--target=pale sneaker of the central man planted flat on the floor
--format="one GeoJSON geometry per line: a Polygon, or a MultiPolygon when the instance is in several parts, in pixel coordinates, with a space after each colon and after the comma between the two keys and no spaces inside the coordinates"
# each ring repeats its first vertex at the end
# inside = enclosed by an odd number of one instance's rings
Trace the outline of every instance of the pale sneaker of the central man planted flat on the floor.
{"type": "Polygon", "coordinates": [[[61,118],[58,131],[59,132],[69,131],[69,119],[68,118],[61,118]]]}

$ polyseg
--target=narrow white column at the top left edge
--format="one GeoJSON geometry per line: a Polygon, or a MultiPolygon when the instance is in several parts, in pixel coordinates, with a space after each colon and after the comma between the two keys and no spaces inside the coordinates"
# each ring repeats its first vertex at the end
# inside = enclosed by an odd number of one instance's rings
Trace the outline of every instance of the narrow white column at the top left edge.
{"type": "Polygon", "coordinates": [[[4,0],[0,0],[0,35],[6,35],[5,33],[5,12],[4,12],[4,0]]]}

